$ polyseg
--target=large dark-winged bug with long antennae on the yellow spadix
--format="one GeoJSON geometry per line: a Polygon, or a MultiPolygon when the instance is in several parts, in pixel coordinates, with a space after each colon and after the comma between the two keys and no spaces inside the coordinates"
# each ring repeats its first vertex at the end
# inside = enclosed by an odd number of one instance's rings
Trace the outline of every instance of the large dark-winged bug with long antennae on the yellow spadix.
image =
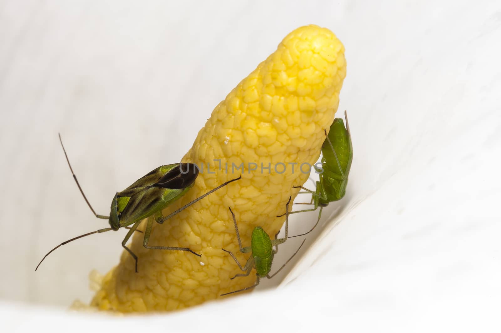
{"type": "MultiPolygon", "coordinates": [[[[110,215],[105,216],[105,215],[100,215],[97,214],[94,208],[92,208],[89,200],[84,194],[84,191],[82,190],[82,187],[80,186],[80,183],[77,180],[77,176],[75,175],[75,172],[73,172],[73,168],[71,167],[70,160],[68,158],[68,154],[66,153],[66,150],[63,145],[63,140],[61,139],[61,134],[59,134],[59,140],[61,142],[61,146],[63,147],[64,154],[66,156],[66,161],[68,162],[68,165],[70,166],[71,173],[73,175],[73,178],[75,179],[75,182],[77,183],[77,186],[82,193],[85,202],[89,205],[89,208],[92,210],[92,213],[98,217],[98,218],[103,218],[103,219],[108,219],[108,222],[110,224],[110,227],[99,229],[96,231],[88,232],[85,234],[82,234],[80,236],[71,238],[65,242],[62,242],[61,244],[57,245],[54,247],[52,250],[50,250],[43,258],[40,260],[39,264],[35,268],[35,270],[38,269],[42,261],[52,253],[55,249],[60,247],[61,245],[64,245],[66,243],[69,243],[70,241],[94,234],[94,233],[101,233],[101,232],[106,232],[110,230],[118,230],[121,227],[129,229],[127,234],[125,235],[125,238],[122,241],[122,247],[125,248],[130,255],[135,260],[135,269],[137,272],[137,255],[132,252],[130,248],[128,248],[125,244],[131,237],[132,233],[136,231],[136,228],[139,226],[139,223],[141,221],[149,216],[154,215],[154,219],[148,219],[147,226],[144,232],[144,239],[143,239],[143,246],[146,248],[150,249],[169,249],[169,250],[180,250],[180,251],[189,251],[195,255],[201,256],[201,254],[198,254],[194,251],[192,251],[188,247],[175,247],[175,246],[149,246],[148,241],[150,238],[151,234],[151,228],[153,224],[153,220],[155,220],[157,223],[163,223],[170,217],[176,215],[180,211],[184,210],[185,208],[189,207],[193,203],[201,200],[205,196],[209,195],[210,193],[218,190],[219,188],[226,186],[232,181],[238,180],[241,178],[234,178],[231,180],[228,180],[221,185],[211,189],[210,191],[206,192],[205,194],[197,197],[193,201],[185,204],[181,208],[173,211],[170,213],[168,216],[163,217],[162,215],[162,209],[166,208],[169,204],[173,203],[177,199],[179,199],[181,196],[184,195],[194,184],[196,177],[198,176],[199,170],[196,167],[195,164],[193,163],[174,163],[174,164],[167,164],[167,165],[161,165],[157,167],[156,169],[150,171],[146,175],[142,176],[138,180],[136,180],[132,185],[124,189],[123,191],[117,192],[115,196],[113,197],[111,201],[111,210],[110,210],[110,215]],[[192,169],[193,172],[189,172],[189,169],[192,169]],[[186,170],[186,171],[184,171],[186,170]],[[129,226],[132,225],[132,226],[129,226]]],[[[138,232],[142,232],[137,230],[138,232]]]]}

